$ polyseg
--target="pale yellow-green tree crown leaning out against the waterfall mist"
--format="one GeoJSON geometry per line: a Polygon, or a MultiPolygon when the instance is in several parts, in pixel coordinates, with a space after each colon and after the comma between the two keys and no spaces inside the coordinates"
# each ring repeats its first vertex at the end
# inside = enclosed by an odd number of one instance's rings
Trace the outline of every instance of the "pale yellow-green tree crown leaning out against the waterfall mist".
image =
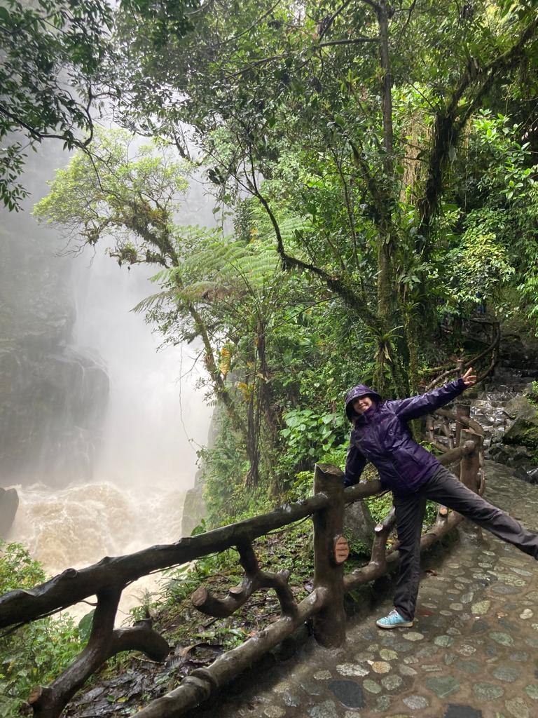
{"type": "Polygon", "coordinates": [[[190,166],[157,141],[136,150],[132,144],[124,130],[96,130],[95,157],[77,151],[57,170],[34,216],[80,248],[112,239],[109,253],[120,265],[167,266],[181,252],[171,215],[187,189],[190,166]]]}

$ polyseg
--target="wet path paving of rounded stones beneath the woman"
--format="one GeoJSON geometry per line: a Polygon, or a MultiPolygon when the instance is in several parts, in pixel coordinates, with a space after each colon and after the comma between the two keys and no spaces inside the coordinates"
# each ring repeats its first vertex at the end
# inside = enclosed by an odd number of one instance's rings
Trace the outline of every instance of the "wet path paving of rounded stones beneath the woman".
{"type": "MultiPolygon", "coordinates": [[[[486,462],[486,498],[538,530],[538,487],[486,462]]],[[[473,526],[423,575],[415,624],[382,630],[390,599],[348,624],[344,648],[309,640],[218,715],[250,718],[538,717],[538,563],[473,526]]],[[[214,707],[201,718],[215,715],[214,707]]]]}

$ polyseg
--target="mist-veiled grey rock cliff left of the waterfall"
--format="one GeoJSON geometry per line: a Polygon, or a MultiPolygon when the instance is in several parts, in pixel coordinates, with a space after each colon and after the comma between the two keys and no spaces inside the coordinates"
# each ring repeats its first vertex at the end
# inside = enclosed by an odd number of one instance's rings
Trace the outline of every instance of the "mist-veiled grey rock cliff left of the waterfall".
{"type": "Polygon", "coordinates": [[[0,230],[0,483],[88,479],[108,401],[98,355],[73,345],[72,260],[20,213],[0,230]]]}

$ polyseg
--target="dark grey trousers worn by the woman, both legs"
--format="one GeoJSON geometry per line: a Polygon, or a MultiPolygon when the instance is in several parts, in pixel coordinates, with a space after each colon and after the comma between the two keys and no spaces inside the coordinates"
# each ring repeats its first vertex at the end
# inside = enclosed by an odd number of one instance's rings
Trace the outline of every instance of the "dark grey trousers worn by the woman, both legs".
{"type": "Polygon", "coordinates": [[[400,575],[394,604],[405,619],[412,620],[415,615],[420,579],[420,533],[428,498],[458,511],[494,536],[538,559],[538,533],[527,531],[514,518],[478,496],[452,472],[440,466],[416,493],[394,497],[400,541],[400,575]]]}

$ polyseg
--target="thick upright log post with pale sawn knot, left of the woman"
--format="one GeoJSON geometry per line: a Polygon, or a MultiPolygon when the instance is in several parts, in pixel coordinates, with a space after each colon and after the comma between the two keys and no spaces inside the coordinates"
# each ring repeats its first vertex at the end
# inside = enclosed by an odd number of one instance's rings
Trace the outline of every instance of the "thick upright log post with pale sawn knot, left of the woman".
{"type": "Polygon", "coordinates": [[[346,640],[344,612],[344,562],[337,558],[344,529],[344,475],[336,466],[316,464],[314,493],[329,497],[326,508],[313,515],[314,589],[324,589],[323,608],[313,618],[314,637],[326,648],[346,640]]]}

